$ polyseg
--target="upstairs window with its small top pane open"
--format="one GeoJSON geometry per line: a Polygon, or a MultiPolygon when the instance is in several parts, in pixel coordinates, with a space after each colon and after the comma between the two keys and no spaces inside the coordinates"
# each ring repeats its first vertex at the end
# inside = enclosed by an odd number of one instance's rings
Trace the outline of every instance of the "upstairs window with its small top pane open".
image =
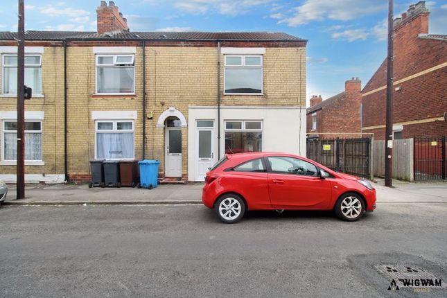
{"type": "Polygon", "coordinates": [[[134,55],[96,55],[96,94],[135,94],[134,55]]]}

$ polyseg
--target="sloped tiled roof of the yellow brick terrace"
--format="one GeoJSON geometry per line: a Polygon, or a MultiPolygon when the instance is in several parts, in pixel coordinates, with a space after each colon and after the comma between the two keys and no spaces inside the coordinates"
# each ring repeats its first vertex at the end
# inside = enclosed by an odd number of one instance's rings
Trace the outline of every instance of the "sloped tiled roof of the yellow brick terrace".
{"type": "MultiPolygon", "coordinates": [[[[255,41],[281,41],[297,42],[306,41],[299,37],[281,32],[112,32],[98,34],[96,32],[78,31],[26,31],[26,40],[255,40],[255,41]]],[[[0,32],[0,40],[15,40],[17,33],[3,31],[0,32]]]]}

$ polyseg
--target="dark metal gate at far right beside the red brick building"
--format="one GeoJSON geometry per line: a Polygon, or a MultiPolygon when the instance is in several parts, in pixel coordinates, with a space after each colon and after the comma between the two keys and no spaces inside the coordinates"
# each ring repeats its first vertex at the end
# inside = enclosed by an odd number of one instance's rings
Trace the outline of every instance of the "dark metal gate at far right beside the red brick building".
{"type": "Polygon", "coordinates": [[[445,180],[446,170],[446,136],[414,137],[414,180],[445,180]]]}

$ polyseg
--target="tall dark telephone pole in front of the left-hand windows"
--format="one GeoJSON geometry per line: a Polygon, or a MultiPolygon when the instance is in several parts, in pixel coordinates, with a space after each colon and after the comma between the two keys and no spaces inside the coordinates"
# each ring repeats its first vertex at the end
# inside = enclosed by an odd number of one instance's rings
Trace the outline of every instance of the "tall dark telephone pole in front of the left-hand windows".
{"type": "Polygon", "coordinates": [[[17,199],[25,198],[25,3],[19,0],[17,30],[17,199]]]}

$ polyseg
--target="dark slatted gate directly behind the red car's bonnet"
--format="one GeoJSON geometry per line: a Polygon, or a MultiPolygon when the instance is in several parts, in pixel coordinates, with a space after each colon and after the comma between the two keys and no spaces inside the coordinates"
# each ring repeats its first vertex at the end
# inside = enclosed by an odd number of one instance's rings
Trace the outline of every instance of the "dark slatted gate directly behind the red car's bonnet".
{"type": "Polygon", "coordinates": [[[371,177],[371,139],[308,138],[307,157],[319,164],[358,177],[371,177]]]}

